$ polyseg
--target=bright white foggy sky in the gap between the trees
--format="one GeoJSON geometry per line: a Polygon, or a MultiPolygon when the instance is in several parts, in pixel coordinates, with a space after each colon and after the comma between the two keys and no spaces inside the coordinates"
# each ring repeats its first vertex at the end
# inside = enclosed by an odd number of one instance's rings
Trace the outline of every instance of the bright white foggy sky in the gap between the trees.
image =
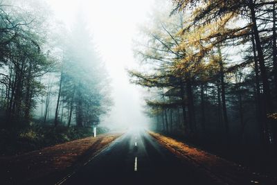
{"type": "Polygon", "coordinates": [[[82,5],[89,17],[94,41],[106,62],[112,79],[114,107],[104,123],[109,125],[143,124],[148,120],[142,113],[143,96],[139,87],[129,84],[126,68],[135,67],[132,53],[132,39],[136,36],[138,24],[147,19],[154,0],[46,0],[55,15],[70,25],[75,10],[82,5]]]}

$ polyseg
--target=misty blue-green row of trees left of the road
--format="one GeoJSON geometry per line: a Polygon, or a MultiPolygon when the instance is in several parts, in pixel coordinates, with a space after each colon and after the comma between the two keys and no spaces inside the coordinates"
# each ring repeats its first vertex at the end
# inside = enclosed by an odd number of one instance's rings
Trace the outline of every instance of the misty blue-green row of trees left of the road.
{"type": "Polygon", "coordinates": [[[68,30],[44,1],[1,1],[3,151],[11,138],[46,141],[43,127],[54,135],[57,126],[91,127],[109,111],[109,79],[84,19],[79,13],[68,30]]]}

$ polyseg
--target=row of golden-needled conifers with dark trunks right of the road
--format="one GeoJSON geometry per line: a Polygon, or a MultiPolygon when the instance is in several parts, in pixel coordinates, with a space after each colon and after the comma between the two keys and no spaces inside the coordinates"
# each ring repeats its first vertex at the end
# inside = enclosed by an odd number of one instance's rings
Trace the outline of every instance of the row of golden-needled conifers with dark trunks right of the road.
{"type": "Polygon", "coordinates": [[[213,146],[277,149],[277,1],[167,1],[129,71],[160,132],[213,146]],[[167,7],[167,8],[165,8],[167,7]]]}

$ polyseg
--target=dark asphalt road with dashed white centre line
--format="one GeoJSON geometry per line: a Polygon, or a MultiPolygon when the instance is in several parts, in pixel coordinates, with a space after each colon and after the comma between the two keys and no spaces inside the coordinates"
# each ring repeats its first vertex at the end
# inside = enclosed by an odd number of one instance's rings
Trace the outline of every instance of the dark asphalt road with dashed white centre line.
{"type": "Polygon", "coordinates": [[[62,184],[217,184],[145,130],[129,131],[62,184]]]}

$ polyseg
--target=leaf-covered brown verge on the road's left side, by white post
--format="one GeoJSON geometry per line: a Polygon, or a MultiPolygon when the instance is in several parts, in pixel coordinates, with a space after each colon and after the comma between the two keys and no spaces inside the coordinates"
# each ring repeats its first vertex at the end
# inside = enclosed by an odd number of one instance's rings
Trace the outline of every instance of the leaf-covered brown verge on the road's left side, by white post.
{"type": "Polygon", "coordinates": [[[101,134],[24,155],[0,157],[1,184],[55,184],[120,135],[101,134]]]}

